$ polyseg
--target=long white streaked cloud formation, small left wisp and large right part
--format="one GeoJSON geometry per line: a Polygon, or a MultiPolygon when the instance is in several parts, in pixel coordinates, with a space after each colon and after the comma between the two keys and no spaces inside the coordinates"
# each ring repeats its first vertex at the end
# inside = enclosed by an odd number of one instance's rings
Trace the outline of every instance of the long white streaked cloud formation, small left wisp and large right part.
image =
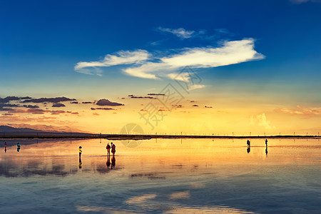
{"type": "MultiPolygon", "coordinates": [[[[150,57],[149,61],[140,61],[140,65],[132,63],[131,66],[124,68],[123,71],[130,76],[139,78],[173,78],[175,73],[185,66],[189,66],[190,68],[213,68],[265,58],[263,54],[255,51],[254,47],[254,39],[243,39],[240,41],[225,41],[219,47],[186,48],[178,54],[150,57]]],[[[146,55],[151,56],[147,51],[146,55]]],[[[119,64],[121,64],[122,61],[129,64],[131,59],[127,61],[124,57],[126,56],[123,56],[121,61],[118,61],[119,64]]],[[[111,56],[108,55],[108,58],[111,58],[111,56]]],[[[115,63],[113,63],[113,65],[115,63]]],[[[75,67],[76,70],[78,68],[92,66],[111,66],[109,63],[92,62],[78,63],[77,65],[78,66],[75,67]]]]}

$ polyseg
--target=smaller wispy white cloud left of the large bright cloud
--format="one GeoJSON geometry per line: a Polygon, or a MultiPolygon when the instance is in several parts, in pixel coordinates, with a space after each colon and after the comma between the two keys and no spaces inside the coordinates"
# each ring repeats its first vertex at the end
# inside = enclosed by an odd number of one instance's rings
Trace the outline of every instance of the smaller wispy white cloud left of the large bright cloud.
{"type": "Polygon", "coordinates": [[[143,63],[143,61],[146,61],[150,56],[148,51],[145,50],[118,51],[116,54],[118,56],[107,54],[102,61],[78,62],[75,66],[75,70],[78,71],[81,68],[86,67],[107,67],[121,64],[143,63]]]}

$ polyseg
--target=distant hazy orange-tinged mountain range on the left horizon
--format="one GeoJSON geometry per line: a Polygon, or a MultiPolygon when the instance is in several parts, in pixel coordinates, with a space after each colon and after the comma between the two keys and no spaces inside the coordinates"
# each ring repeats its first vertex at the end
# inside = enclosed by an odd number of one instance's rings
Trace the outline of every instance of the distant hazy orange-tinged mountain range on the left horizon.
{"type": "Polygon", "coordinates": [[[0,124],[0,132],[21,132],[21,131],[45,131],[45,132],[73,132],[86,133],[77,128],[68,126],[47,126],[47,125],[29,125],[29,124],[0,124]]]}

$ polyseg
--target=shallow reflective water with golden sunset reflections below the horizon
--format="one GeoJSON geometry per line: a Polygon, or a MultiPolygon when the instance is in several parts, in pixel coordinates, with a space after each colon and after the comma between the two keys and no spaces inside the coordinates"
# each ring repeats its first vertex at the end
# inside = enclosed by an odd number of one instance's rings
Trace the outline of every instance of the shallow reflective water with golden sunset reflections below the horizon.
{"type": "Polygon", "coordinates": [[[320,213],[321,142],[1,140],[0,213],[320,213]],[[81,163],[78,146],[82,146],[81,163]],[[114,164],[113,164],[114,162],[114,164]]]}

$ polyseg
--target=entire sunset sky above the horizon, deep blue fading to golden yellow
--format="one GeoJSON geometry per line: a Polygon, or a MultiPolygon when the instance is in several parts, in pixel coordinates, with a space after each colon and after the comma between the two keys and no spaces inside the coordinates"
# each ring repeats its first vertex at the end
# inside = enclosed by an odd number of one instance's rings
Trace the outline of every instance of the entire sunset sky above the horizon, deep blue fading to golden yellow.
{"type": "Polygon", "coordinates": [[[78,101],[3,101],[2,124],[103,133],[127,123],[148,133],[321,130],[321,1],[0,0],[0,19],[0,97],[78,101]],[[173,79],[185,66],[200,78],[189,91],[173,79]],[[148,116],[158,100],[128,95],[161,93],[168,83],[181,106],[158,105],[166,116],[152,128],[138,113],[148,116]],[[123,106],[97,105],[101,99],[123,106]]]}

